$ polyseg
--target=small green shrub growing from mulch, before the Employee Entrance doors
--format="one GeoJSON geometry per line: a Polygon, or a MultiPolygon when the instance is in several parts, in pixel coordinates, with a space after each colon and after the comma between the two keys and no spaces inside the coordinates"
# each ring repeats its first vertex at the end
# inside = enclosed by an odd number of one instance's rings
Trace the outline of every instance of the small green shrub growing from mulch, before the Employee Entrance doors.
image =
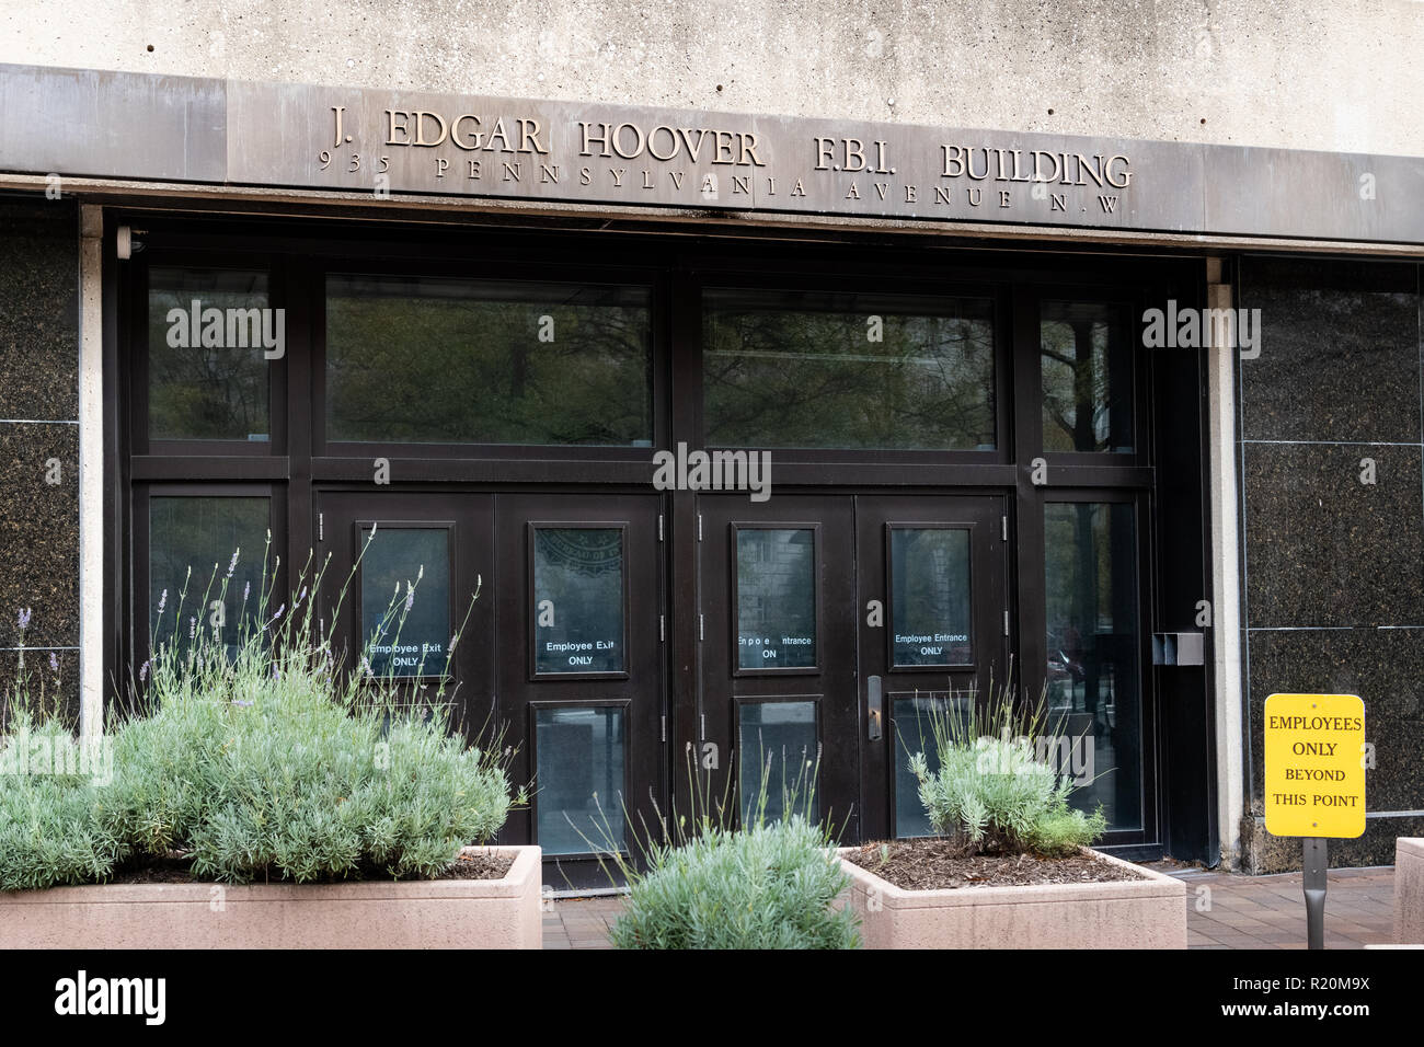
{"type": "Polygon", "coordinates": [[[934,755],[910,755],[920,802],[937,833],[965,853],[1065,856],[1098,839],[1106,828],[1099,808],[1085,815],[1068,806],[1072,779],[1059,776],[1038,752],[1045,734],[1042,704],[1015,711],[1012,688],[991,692],[973,712],[936,707],[934,755]]]}

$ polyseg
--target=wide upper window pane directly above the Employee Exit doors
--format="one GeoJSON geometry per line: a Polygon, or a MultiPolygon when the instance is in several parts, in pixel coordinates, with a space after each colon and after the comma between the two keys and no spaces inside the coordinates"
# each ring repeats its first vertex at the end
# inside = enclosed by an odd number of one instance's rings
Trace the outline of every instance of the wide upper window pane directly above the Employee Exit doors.
{"type": "Polygon", "coordinates": [[[333,440],[628,444],[649,382],[641,289],[328,279],[333,440]]]}

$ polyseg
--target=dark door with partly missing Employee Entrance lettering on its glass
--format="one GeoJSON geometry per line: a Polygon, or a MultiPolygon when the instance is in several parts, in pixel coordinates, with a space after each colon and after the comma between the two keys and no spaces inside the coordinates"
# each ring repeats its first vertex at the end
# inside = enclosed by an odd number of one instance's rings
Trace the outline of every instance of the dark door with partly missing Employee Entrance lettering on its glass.
{"type": "Polygon", "coordinates": [[[768,819],[789,803],[859,832],[854,504],[847,497],[698,500],[708,788],[768,819]],[[726,773],[731,772],[731,782],[726,773]]]}

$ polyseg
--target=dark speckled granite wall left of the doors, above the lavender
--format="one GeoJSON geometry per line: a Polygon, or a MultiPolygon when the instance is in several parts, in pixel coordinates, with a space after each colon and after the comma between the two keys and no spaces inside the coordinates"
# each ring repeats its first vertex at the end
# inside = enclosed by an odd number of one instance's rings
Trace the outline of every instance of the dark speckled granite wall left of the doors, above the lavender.
{"type": "Polygon", "coordinates": [[[78,719],[78,208],[0,197],[0,685],[78,719]],[[51,460],[57,459],[57,470],[51,460]],[[51,480],[58,480],[51,483],[51,480]],[[50,655],[58,672],[50,668],[50,655]]]}

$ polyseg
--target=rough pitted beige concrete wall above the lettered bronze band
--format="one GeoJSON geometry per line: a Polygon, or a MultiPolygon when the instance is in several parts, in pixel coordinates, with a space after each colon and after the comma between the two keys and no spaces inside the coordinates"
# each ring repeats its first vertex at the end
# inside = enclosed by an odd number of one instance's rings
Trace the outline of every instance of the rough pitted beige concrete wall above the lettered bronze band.
{"type": "Polygon", "coordinates": [[[0,61],[1424,155],[1421,0],[7,0],[0,61]]]}

